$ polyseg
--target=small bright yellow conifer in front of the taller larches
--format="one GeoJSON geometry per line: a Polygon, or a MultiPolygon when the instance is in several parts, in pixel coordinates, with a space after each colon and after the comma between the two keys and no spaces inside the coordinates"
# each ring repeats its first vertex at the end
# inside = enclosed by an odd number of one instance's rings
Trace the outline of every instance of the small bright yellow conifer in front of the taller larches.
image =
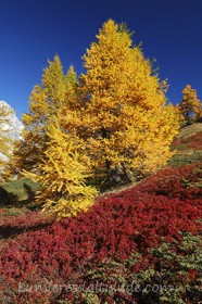
{"type": "Polygon", "coordinates": [[[43,187],[38,202],[58,218],[87,211],[97,194],[96,188],[86,186],[90,176],[84,142],[60,126],[58,117],[48,127],[48,143],[39,163],[41,174],[25,173],[43,187]]]}

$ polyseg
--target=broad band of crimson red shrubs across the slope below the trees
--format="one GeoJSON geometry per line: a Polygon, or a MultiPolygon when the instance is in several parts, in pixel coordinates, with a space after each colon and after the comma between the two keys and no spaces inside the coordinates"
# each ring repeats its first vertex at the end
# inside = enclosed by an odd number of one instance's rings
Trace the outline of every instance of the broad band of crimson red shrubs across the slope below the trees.
{"type": "MultiPolygon", "coordinates": [[[[48,223],[47,227],[45,220],[43,227],[21,233],[0,249],[3,283],[12,282],[15,288],[22,281],[78,283],[85,269],[93,269],[105,258],[123,262],[132,252],[147,256],[163,237],[172,241],[180,239],[179,231],[197,232],[201,189],[189,188],[187,180],[194,185],[201,178],[200,168],[194,165],[162,170],[132,189],[98,199],[86,214],[48,223]]],[[[29,218],[23,220],[13,225],[30,228],[29,218]]],[[[8,224],[2,225],[3,231],[11,229],[8,224]]],[[[25,294],[16,292],[16,303],[21,303],[25,294]]]]}

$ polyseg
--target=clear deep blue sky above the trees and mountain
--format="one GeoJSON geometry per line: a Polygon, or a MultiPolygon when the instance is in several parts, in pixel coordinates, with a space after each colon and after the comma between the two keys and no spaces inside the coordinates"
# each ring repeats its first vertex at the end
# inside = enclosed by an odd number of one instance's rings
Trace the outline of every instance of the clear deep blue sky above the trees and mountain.
{"type": "Polygon", "coordinates": [[[59,54],[79,75],[81,56],[109,18],[136,31],[147,58],[156,59],[174,104],[190,84],[202,99],[202,0],[0,0],[0,100],[18,117],[59,54]]]}

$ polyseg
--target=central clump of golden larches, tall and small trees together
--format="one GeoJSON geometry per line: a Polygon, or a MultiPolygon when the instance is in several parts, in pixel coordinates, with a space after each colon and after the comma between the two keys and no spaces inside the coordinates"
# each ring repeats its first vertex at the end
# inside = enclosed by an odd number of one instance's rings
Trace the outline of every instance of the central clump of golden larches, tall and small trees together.
{"type": "Polygon", "coordinates": [[[60,217],[70,206],[75,214],[92,203],[84,199],[93,201],[96,193],[86,173],[100,190],[104,183],[131,181],[165,166],[179,128],[165,97],[166,81],[160,81],[151,61],[134,47],[126,26],[109,20],[96,37],[78,80],[73,66],[64,74],[59,56],[49,61],[23,116],[24,141],[11,160],[10,172],[24,169],[47,187],[40,198],[60,217]]]}

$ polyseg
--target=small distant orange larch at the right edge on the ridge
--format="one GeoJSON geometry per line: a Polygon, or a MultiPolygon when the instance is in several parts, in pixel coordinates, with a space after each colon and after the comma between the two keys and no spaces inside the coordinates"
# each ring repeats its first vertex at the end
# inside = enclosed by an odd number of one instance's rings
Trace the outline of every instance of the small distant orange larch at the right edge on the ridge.
{"type": "Polygon", "coordinates": [[[197,90],[192,89],[190,85],[187,85],[182,90],[179,112],[186,124],[202,116],[202,103],[198,98],[197,90]]]}

